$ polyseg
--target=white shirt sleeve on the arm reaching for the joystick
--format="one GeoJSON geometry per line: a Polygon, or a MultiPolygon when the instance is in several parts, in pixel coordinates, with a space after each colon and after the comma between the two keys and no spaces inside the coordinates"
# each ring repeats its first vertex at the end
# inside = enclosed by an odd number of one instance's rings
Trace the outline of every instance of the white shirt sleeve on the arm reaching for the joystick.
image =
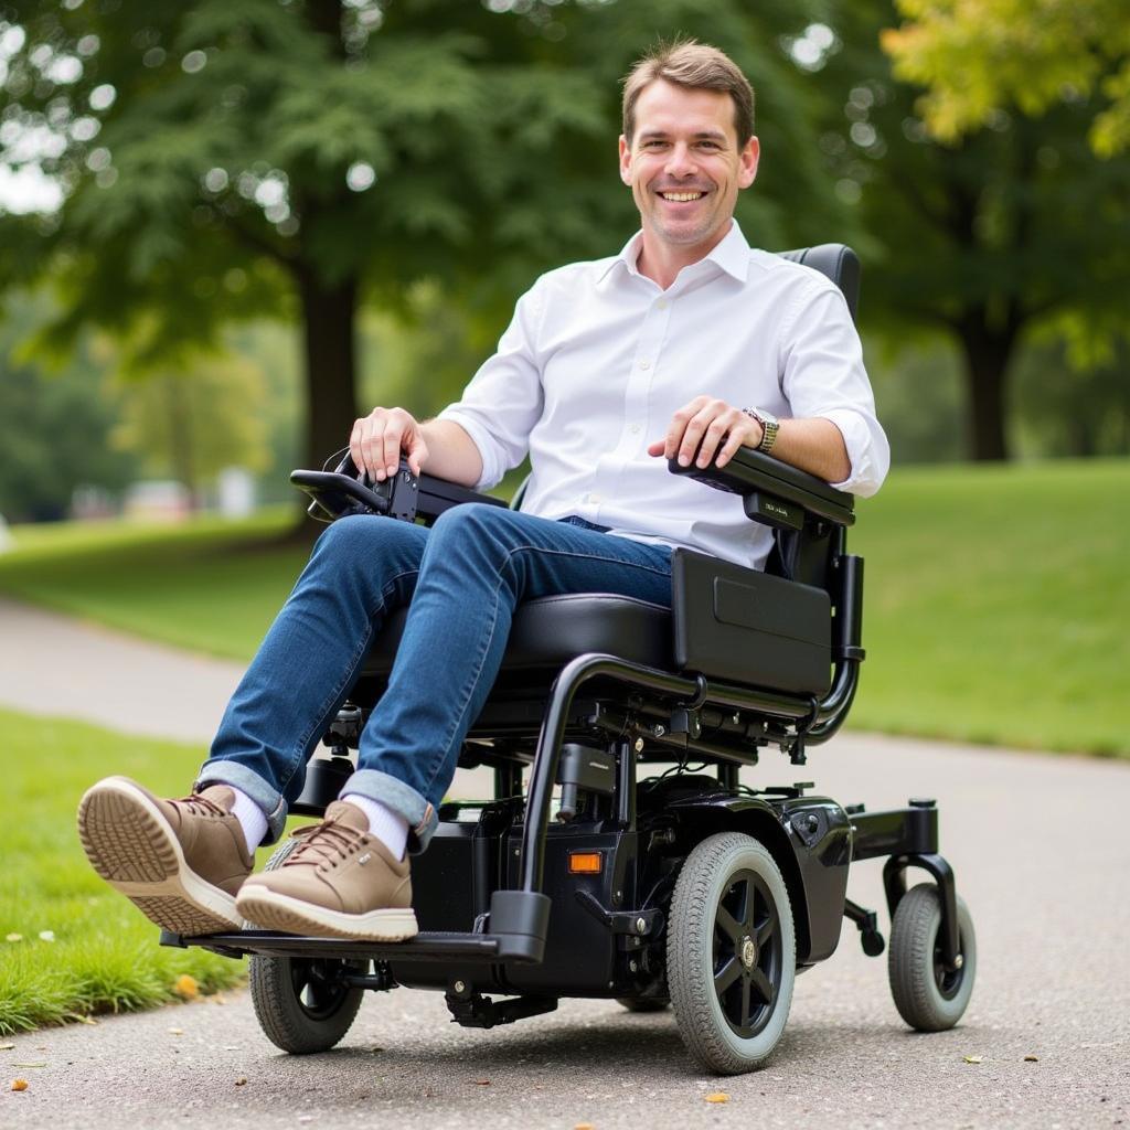
{"type": "Polygon", "coordinates": [[[514,308],[514,318],[498,340],[494,356],[484,362],[463,390],[437,419],[454,420],[471,437],[483,459],[476,489],[495,486],[529,451],[530,432],[541,417],[541,359],[538,328],[544,289],[533,285],[514,308]]]}

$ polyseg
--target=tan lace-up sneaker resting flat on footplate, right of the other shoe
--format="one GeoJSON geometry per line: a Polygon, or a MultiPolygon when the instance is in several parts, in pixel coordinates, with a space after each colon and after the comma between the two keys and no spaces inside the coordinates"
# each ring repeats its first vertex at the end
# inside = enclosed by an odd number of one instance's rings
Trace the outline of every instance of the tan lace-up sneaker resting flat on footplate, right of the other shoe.
{"type": "Polygon", "coordinates": [[[318,938],[403,941],[418,932],[408,860],[393,859],[368,833],[365,814],[337,800],[321,824],[298,828],[298,842],[275,871],[252,876],[236,899],[263,930],[318,938]]]}

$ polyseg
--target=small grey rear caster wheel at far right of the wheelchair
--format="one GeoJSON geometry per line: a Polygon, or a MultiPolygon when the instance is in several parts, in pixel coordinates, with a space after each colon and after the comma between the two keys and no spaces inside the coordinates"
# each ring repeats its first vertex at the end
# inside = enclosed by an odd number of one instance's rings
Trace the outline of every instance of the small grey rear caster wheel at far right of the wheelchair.
{"type": "Polygon", "coordinates": [[[941,963],[938,931],[941,897],[931,883],[903,895],[890,923],[887,974],[898,1015],[919,1032],[944,1032],[962,1018],[973,993],[977,971],[977,939],[968,907],[957,899],[958,946],[962,967],[941,963]]]}

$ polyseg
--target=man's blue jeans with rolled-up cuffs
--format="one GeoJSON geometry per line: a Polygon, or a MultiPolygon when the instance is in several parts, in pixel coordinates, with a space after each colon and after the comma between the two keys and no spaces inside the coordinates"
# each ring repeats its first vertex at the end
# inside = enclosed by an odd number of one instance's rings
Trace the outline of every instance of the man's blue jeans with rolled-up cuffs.
{"type": "Polygon", "coordinates": [[[614,592],[671,601],[671,550],[469,503],[428,530],[388,518],[339,519],[228,704],[195,788],[231,784],[268,816],[277,840],[321,740],[392,608],[409,605],[389,686],[362,732],[344,792],[399,812],[423,851],[463,738],[494,685],[522,600],[614,592]]]}

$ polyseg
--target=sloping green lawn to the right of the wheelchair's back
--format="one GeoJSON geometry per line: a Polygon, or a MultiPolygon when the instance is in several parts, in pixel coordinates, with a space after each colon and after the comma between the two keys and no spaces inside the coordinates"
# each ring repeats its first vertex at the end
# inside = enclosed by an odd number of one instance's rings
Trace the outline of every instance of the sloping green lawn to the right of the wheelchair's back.
{"type": "Polygon", "coordinates": [[[852,725],[1130,756],[1130,461],[903,471],[861,507],[852,725]]]}

